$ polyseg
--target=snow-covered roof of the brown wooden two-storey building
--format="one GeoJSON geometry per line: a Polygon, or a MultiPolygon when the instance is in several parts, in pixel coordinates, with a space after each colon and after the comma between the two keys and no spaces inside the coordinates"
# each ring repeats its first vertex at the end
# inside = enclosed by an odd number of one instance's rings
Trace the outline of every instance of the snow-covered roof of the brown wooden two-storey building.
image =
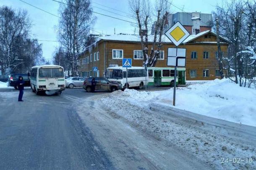
{"type": "MultiPolygon", "coordinates": [[[[183,41],[183,44],[188,43],[193,41],[196,38],[199,38],[201,36],[203,36],[206,33],[212,33],[216,36],[215,33],[213,33],[210,30],[206,30],[203,31],[201,33],[198,33],[196,35],[190,35],[188,36],[188,38],[185,39],[185,41],[183,41]]],[[[222,37],[221,37],[222,38],[222,37]]],[[[225,38],[222,38],[225,41],[228,41],[225,38]]],[[[141,42],[141,37],[139,35],[132,35],[132,34],[115,34],[115,35],[111,35],[111,36],[102,36],[97,38],[97,41],[93,44],[91,44],[90,46],[86,47],[86,49],[90,49],[92,46],[97,46],[97,42],[101,41],[101,40],[106,40],[106,41],[127,41],[127,42],[141,42]]],[[[157,40],[158,40],[158,36],[157,36],[157,40]]],[[[148,35],[148,42],[152,43],[154,41],[154,35],[148,35]]],[[[172,43],[172,41],[169,40],[169,38],[167,38],[165,35],[162,35],[162,43],[172,43]]],[[[197,42],[199,43],[199,42],[197,42]]],[[[216,42],[200,42],[200,43],[216,43],[216,42]]]]}

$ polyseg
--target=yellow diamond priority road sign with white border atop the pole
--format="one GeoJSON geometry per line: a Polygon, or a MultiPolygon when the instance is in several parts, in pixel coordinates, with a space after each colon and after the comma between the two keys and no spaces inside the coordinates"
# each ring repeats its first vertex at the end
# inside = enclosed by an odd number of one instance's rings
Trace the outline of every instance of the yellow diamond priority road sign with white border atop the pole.
{"type": "Polygon", "coordinates": [[[166,31],[165,36],[167,36],[175,46],[180,45],[190,34],[178,21],[169,30],[166,31]]]}

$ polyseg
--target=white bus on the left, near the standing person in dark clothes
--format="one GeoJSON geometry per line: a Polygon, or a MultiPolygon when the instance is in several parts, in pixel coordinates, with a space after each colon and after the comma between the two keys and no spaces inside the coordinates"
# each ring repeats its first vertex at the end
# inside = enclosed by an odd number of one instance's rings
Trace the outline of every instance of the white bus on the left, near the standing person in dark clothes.
{"type": "Polygon", "coordinates": [[[62,66],[34,66],[30,73],[30,86],[37,95],[42,91],[56,91],[59,94],[65,90],[65,77],[62,66]]]}

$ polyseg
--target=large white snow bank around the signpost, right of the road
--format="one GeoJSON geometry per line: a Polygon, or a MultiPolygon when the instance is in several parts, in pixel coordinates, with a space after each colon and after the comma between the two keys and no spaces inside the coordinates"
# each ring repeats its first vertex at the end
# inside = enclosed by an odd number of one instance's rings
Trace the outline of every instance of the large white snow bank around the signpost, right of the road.
{"type": "MultiPolygon", "coordinates": [[[[127,89],[111,95],[116,100],[148,109],[151,102],[172,106],[173,89],[165,91],[136,91],[127,89]]],[[[106,99],[107,100],[107,99],[106,99]]],[[[178,87],[176,108],[217,119],[256,127],[256,90],[240,87],[228,79],[215,79],[204,84],[178,87]]]]}

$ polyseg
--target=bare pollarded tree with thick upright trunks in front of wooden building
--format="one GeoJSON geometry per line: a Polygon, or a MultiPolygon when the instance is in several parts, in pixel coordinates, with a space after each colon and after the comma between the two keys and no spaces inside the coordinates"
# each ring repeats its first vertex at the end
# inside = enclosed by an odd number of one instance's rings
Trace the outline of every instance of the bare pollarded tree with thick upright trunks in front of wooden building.
{"type": "MultiPolygon", "coordinates": [[[[155,0],[154,7],[149,0],[129,0],[132,13],[135,15],[144,56],[144,65],[154,67],[162,47],[163,26],[169,14],[171,3],[168,0],[155,0]],[[152,12],[153,11],[153,12],[152,12]],[[156,19],[154,39],[149,50],[149,21],[156,19]]],[[[151,42],[150,42],[151,44],[151,42]]]]}

